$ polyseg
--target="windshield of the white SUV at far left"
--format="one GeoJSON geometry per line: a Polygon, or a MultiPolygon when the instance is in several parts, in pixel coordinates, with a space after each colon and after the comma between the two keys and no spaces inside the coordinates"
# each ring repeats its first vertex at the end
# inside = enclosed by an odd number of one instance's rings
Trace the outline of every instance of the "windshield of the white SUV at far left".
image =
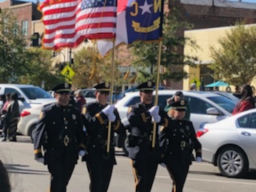
{"type": "Polygon", "coordinates": [[[26,97],[29,99],[37,98],[53,98],[46,90],[42,90],[39,87],[24,87],[21,90],[26,94],[26,97]]]}

